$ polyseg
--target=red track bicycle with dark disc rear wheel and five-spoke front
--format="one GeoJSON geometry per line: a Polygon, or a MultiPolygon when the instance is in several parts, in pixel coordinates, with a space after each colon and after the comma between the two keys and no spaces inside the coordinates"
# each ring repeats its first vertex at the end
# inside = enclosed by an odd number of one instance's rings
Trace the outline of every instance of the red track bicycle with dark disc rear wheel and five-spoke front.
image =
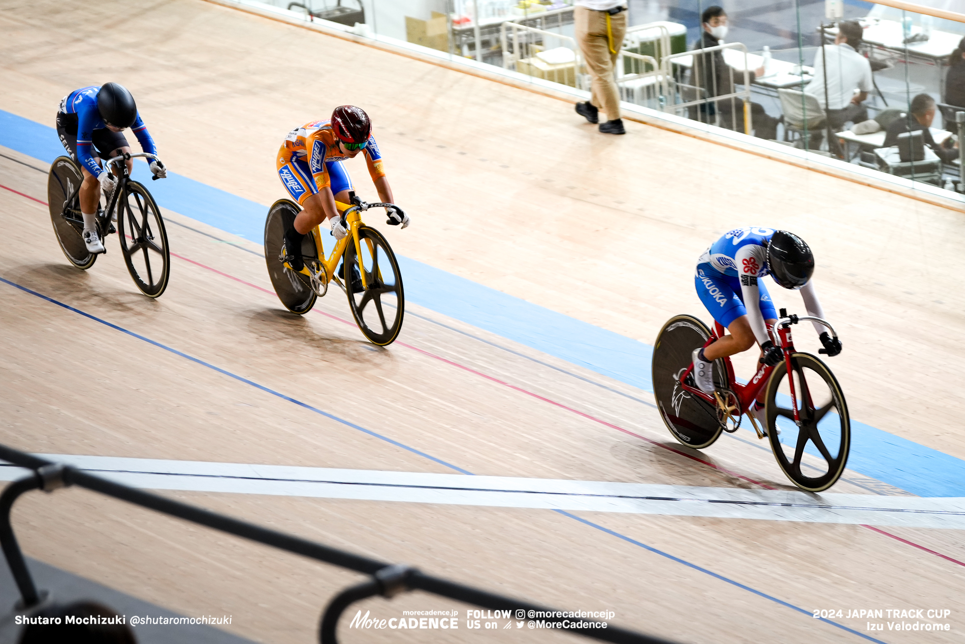
{"type": "Polygon", "coordinates": [[[672,318],[660,329],[653,348],[653,394],[667,429],[684,445],[709,447],[722,432],[736,432],[746,415],[758,438],[766,434],[778,465],[794,485],[827,490],[841,478],[851,446],[847,404],[831,370],[817,356],[794,350],[790,326],[816,322],[835,338],[838,334],[820,318],[788,316],[785,309],[780,315],[768,332],[784,350],[784,362],[776,367],[759,364],[754,377],[741,384],[729,357],[714,360],[713,394],[697,388],[691,354],[722,337],[724,327],[715,322],[711,331],[693,316],[672,318]],[[763,429],[751,412],[761,391],[767,424],[763,429]]]}

